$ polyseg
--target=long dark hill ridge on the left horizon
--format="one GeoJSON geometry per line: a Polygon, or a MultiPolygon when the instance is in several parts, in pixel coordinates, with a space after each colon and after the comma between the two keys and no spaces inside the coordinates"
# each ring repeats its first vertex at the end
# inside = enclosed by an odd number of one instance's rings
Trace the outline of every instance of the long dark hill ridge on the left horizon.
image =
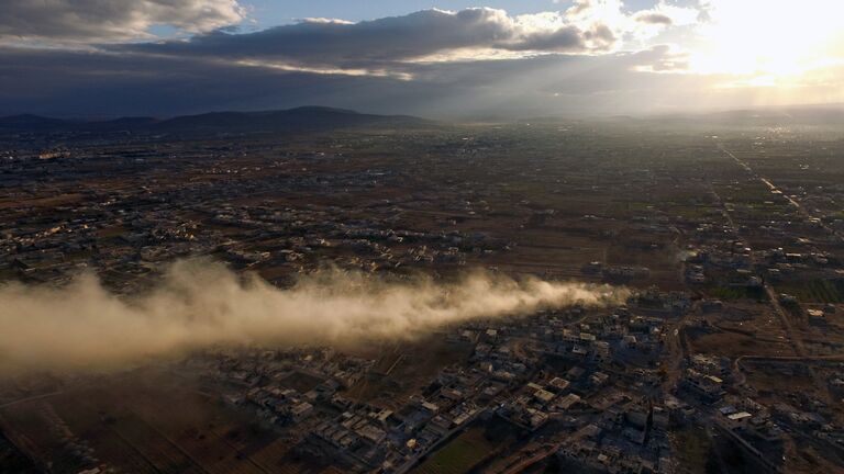
{"type": "Polygon", "coordinates": [[[385,126],[413,127],[432,122],[409,115],[374,115],[344,109],[302,106],[263,112],[210,112],[158,120],[122,117],[111,121],[75,121],[37,115],[0,117],[0,129],[14,132],[130,132],[136,134],[285,133],[385,126]]]}

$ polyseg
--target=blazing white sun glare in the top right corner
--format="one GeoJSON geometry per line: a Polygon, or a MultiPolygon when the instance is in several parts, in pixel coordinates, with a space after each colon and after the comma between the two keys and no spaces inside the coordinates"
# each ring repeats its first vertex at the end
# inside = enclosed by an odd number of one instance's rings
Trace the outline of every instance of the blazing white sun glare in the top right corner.
{"type": "Polygon", "coordinates": [[[691,71],[749,76],[757,86],[799,80],[844,58],[844,2],[712,0],[691,71]]]}

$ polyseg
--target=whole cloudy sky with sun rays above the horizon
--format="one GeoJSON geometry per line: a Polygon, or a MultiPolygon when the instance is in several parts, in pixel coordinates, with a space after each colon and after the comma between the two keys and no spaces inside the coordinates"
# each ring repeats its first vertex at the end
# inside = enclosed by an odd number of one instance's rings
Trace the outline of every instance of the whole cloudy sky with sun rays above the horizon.
{"type": "Polygon", "coordinates": [[[840,0],[3,0],[0,114],[844,103],[840,0]]]}

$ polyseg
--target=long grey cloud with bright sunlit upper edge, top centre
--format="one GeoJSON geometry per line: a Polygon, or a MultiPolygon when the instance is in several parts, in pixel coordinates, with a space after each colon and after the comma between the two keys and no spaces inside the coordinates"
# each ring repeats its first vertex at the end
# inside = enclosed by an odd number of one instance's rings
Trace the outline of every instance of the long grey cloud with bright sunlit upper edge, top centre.
{"type": "Polygon", "coordinates": [[[324,67],[377,67],[459,49],[595,53],[615,36],[606,25],[580,30],[558,14],[531,19],[487,8],[424,10],[359,23],[304,21],[249,34],[212,32],[189,41],[124,45],[121,50],[285,61],[324,67]]]}

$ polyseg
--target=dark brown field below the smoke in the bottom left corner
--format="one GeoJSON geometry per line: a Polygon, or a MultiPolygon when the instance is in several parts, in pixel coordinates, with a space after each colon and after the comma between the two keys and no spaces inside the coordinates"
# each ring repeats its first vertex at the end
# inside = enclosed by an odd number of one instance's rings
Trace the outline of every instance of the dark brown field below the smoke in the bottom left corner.
{"type": "MultiPolygon", "coordinates": [[[[54,472],[79,465],[63,438],[86,440],[101,463],[131,473],[268,473],[288,455],[278,437],[171,375],[109,379],[4,407],[3,430],[54,472]]],[[[76,470],[76,471],[75,471],[76,470]]]]}

